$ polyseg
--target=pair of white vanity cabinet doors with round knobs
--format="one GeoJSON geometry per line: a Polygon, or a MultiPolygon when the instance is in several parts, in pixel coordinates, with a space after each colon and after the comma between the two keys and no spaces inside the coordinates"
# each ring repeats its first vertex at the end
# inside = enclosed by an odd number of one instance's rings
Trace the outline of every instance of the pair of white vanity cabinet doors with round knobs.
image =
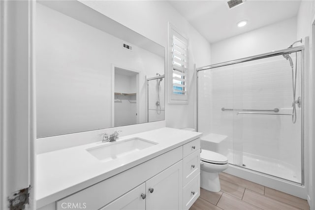
{"type": "Polygon", "coordinates": [[[101,210],[181,210],[182,173],[180,161],[101,210]]]}

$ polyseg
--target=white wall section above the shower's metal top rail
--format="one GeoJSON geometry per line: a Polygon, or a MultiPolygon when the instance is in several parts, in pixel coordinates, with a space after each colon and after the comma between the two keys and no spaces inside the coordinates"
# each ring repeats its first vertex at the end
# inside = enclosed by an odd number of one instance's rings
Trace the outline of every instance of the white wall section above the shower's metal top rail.
{"type": "Polygon", "coordinates": [[[281,50],[296,41],[296,17],[211,44],[211,63],[281,50]]]}

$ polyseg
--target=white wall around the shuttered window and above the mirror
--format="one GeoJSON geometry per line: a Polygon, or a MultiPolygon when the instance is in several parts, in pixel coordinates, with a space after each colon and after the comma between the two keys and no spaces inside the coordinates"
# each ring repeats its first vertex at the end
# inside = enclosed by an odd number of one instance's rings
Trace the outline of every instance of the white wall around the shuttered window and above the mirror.
{"type": "MultiPolygon", "coordinates": [[[[165,104],[168,127],[194,127],[195,83],[193,64],[209,65],[210,44],[167,1],[82,1],[86,5],[168,49],[168,22],[189,38],[189,105],[165,104]]],[[[167,51],[165,51],[167,58],[167,51]]],[[[167,68],[165,64],[165,68],[167,68]]],[[[165,71],[167,84],[167,71],[165,71]]],[[[167,93],[167,85],[165,85],[167,93]]],[[[165,96],[167,98],[167,96],[165,96]]]]}

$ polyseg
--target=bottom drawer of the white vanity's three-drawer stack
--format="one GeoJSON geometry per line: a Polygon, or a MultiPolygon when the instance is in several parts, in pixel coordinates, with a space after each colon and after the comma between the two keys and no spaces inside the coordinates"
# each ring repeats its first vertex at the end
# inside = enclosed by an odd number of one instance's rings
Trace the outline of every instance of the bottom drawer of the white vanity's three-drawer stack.
{"type": "Polygon", "coordinates": [[[183,189],[183,209],[188,210],[200,195],[200,173],[183,189]]]}

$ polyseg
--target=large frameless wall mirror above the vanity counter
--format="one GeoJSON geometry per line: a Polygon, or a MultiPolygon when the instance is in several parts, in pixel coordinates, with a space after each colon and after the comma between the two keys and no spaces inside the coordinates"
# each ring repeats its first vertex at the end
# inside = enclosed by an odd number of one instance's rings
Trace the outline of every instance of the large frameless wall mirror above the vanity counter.
{"type": "Polygon", "coordinates": [[[76,0],[36,3],[37,138],[164,120],[164,47],[76,0]]]}

